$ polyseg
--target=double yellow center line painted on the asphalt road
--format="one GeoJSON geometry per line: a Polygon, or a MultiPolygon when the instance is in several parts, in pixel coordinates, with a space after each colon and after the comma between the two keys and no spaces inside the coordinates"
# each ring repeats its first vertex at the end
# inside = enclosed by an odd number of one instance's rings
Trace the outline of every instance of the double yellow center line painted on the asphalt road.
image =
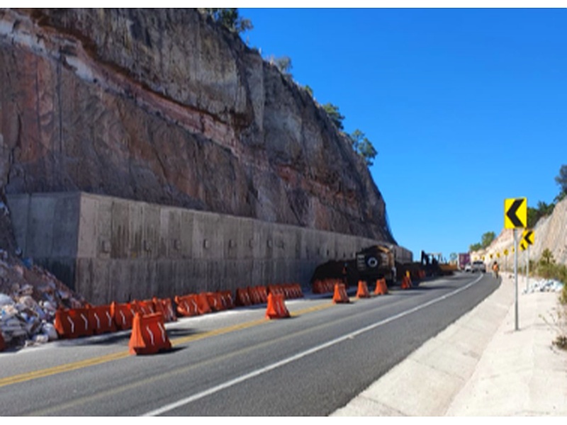
{"type": "MultiPolygon", "coordinates": [[[[325,310],[326,308],[332,307],[333,305],[334,304],[323,304],[315,307],[309,307],[303,310],[298,310],[297,312],[291,313],[290,315],[292,317],[298,317],[301,316],[302,314],[308,314],[310,312],[325,310]]],[[[230,327],[215,329],[214,331],[206,331],[200,334],[194,334],[190,336],[181,336],[179,338],[172,339],[171,342],[172,342],[172,346],[177,346],[180,344],[186,344],[191,341],[198,341],[199,339],[210,338],[211,336],[218,336],[218,335],[228,334],[234,331],[240,331],[242,329],[258,326],[259,324],[264,324],[266,322],[269,322],[269,319],[254,320],[252,322],[245,322],[242,324],[235,324],[230,327]]],[[[19,375],[0,378],[0,387],[6,387],[7,385],[13,385],[19,382],[26,382],[29,380],[45,378],[47,376],[70,372],[72,370],[88,368],[89,366],[100,365],[102,363],[108,363],[110,361],[117,361],[123,358],[127,358],[128,356],[130,356],[130,353],[128,351],[120,351],[118,353],[111,353],[111,354],[106,354],[105,356],[88,358],[86,360],[77,361],[74,363],[66,363],[64,365],[58,365],[52,368],[34,370],[33,372],[26,372],[26,373],[21,373],[19,375]]]]}

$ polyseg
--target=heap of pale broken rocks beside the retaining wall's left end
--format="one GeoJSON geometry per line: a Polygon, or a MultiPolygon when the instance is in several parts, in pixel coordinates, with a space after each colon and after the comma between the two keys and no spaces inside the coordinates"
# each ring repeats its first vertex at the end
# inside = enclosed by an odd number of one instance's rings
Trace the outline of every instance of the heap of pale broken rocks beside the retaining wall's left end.
{"type": "Polygon", "coordinates": [[[51,273],[0,250],[0,331],[7,347],[57,339],[53,327],[57,308],[85,304],[51,273]]]}

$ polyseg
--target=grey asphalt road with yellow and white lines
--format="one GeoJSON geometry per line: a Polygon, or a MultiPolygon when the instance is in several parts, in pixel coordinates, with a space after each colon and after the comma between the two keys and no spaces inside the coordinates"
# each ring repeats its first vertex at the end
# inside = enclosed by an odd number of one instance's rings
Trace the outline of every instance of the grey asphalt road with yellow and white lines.
{"type": "Polygon", "coordinates": [[[152,356],[128,355],[129,332],[0,353],[0,415],[325,416],[497,286],[459,273],[349,304],[290,300],[289,319],[265,305],[180,319],[152,356]]]}

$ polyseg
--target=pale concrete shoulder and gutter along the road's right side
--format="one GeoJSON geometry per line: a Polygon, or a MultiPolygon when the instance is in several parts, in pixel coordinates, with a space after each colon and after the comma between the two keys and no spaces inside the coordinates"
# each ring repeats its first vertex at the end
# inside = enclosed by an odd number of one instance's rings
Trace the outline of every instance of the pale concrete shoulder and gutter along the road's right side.
{"type": "Polygon", "coordinates": [[[331,416],[567,416],[567,351],[552,346],[558,293],[513,276],[331,416]]]}

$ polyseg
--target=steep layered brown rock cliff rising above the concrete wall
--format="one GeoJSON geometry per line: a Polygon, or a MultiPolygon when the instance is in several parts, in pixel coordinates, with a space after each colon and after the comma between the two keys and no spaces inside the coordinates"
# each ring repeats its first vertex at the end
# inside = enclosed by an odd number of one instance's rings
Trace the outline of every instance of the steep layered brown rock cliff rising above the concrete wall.
{"type": "Polygon", "coordinates": [[[194,10],[1,9],[0,193],[86,191],[394,242],[307,92],[194,10]]]}

